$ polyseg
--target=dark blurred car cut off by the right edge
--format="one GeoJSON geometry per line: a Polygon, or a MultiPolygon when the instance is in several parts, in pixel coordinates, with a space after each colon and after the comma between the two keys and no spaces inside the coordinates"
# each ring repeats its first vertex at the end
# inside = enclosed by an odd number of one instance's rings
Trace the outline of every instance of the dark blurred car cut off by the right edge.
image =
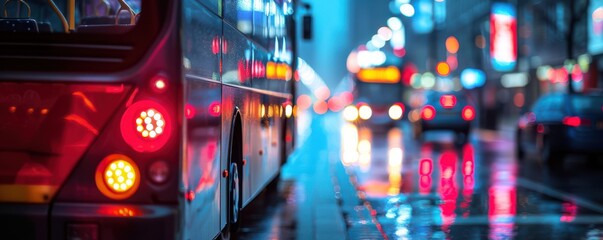
{"type": "Polygon", "coordinates": [[[603,94],[555,93],[540,97],[518,121],[516,154],[539,155],[559,168],[568,153],[603,154],[603,94]]]}

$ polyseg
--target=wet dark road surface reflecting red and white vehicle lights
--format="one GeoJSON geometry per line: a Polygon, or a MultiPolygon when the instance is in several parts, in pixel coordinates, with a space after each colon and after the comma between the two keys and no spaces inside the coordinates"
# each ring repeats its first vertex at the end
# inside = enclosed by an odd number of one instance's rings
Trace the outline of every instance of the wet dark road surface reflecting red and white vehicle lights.
{"type": "MultiPolygon", "coordinates": [[[[341,160],[389,239],[603,239],[603,164],[569,156],[563,171],[551,172],[535,158],[518,161],[512,132],[474,130],[464,145],[446,132],[415,141],[407,123],[341,121],[320,132],[341,143],[341,160]]],[[[286,185],[247,214],[240,238],[295,236],[295,201],[287,200],[295,184],[286,185]]]]}

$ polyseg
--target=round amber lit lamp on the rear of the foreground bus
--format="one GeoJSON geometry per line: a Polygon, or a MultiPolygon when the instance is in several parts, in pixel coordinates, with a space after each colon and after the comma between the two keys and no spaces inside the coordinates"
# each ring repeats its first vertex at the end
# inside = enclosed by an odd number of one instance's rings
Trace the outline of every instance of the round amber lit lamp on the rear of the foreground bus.
{"type": "Polygon", "coordinates": [[[96,168],[96,187],[108,198],[121,200],[132,196],[140,184],[138,165],[128,156],[111,154],[96,168]]]}

